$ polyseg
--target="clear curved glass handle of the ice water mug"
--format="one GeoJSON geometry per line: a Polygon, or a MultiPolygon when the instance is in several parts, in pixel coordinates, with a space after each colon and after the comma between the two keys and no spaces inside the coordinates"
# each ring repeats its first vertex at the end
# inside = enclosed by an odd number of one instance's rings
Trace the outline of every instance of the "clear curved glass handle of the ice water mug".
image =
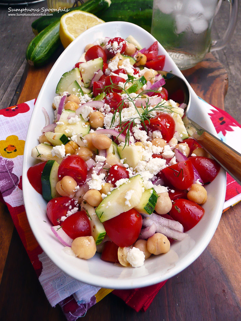
{"type": "Polygon", "coordinates": [[[230,13],[229,13],[227,30],[225,31],[223,38],[212,41],[210,51],[219,50],[225,47],[234,33],[236,23],[237,23],[237,17],[238,17],[239,0],[228,0],[228,1],[230,3],[230,13]]]}

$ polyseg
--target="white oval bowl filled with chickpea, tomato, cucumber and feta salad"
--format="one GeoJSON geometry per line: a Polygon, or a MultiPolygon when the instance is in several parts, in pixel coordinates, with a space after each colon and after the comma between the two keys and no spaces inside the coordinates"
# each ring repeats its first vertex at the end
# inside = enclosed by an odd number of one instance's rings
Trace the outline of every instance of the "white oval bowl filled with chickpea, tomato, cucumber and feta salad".
{"type": "Polygon", "coordinates": [[[161,282],[217,227],[225,175],[188,136],[168,71],[181,74],[148,32],[109,22],[79,36],[40,91],[24,152],[26,212],[40,246],[76,279],[161,282]]]}

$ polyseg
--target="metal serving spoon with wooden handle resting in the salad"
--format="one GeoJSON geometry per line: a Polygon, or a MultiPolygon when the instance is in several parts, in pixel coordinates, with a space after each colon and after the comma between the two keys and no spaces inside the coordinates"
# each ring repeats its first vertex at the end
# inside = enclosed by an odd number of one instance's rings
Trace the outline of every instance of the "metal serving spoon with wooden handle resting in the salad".
{"type": "Polygon", "coordinates": [[[162,72],[162,74],[165,78],[163,87],[168,91],[168,99],[176,95],[175,101],[187,105],[183,122],[188,134],[241,185],[241,154],[189,118],[192,102],[188,83],[173,73],[162,72]]]}

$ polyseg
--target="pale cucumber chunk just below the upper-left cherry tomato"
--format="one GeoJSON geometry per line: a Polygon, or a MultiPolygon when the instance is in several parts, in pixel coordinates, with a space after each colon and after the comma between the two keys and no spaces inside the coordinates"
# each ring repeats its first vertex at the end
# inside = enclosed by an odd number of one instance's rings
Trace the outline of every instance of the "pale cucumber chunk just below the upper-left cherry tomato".
{"type": "Polygon", "coordinates": [[[99,69],[103,70],[103,59],[101,57],[95,58],[93,60],[83,62],[79,67],[85,87],[88,88],[94,74],[99,69]]]}

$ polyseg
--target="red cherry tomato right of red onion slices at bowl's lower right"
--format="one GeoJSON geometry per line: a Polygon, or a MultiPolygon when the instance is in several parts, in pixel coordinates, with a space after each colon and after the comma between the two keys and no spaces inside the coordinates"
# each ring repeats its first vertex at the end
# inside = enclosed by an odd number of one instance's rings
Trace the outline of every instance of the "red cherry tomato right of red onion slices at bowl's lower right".
{"type": "Polygon", "coordinates": [[[174,200],[170,215],[181,223],[184,232],[192,229],[202,218],[204,209],[190,200],[179,198],[174,200]]]}

